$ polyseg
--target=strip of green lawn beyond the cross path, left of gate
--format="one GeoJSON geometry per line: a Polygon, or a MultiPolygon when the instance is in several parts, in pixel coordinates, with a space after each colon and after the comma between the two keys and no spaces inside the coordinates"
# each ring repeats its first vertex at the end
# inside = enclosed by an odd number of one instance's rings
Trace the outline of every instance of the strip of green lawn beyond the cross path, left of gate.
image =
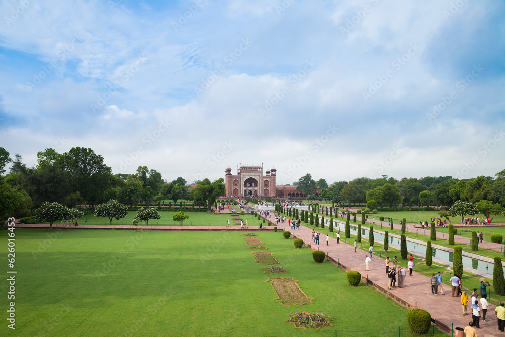
{"type": "MultiPolygon", "coordinates": [[[[165,226],[178,226],[180,225],[179,222],[175,222],[172,220],[172,217],[174,216],[176,212],[158,212],[158,214],[161,216],[159,220],[156,219],[151,219],[149,220],[149,225],[165,225],[165,226]]],[[[128,212],[128,215],[125,218],[116,220],[112,219],[112,224],[113,225],[131,225],[133,218],[137,212],[135,211],[130,211],[128,212]]],[[[184,214],[189,215],[189,219],[184,220],[183,225],[184,226],[226,226],[228,218],[230,219],[230,225],[234,226],[236,225],[235,222],[233,221],[232,215],[231,214],[212,214],[212,213],[206,213],[206,212],[184,212],[184,214]]],[[[260,225],[260,220],[256,219],[254,215],[251,214],[236,214],[236,216],[240,217],[241,219],[244,220],[245,222],[248,220],[250,226],[259,226],[260,225]]],[[[103,218],[103,217],[96,217],[94,214],[87,214],[84,215],[82,218],[79,219],[79,225],[84,225],[85,220],[88,220],[88,225],[108,225],[109,224],[109,218],[103,218]]],[[[61,221],[55,221],[55,224],[63,224],[61,221]]],[[[145,225],[145,222],[139,223],[139,225],[145,225]]],[[[238,224],[237,226],[240,226],[238,224]]]]}

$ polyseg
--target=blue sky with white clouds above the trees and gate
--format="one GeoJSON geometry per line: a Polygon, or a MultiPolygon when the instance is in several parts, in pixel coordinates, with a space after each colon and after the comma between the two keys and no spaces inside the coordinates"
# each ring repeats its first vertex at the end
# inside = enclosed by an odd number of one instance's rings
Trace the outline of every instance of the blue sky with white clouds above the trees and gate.
{"type": "Polygon", "coordinates": [[[494,176],[498,1],[2,1],[0,130],[14,157],[90,147],[114,173],[494,176]]]}

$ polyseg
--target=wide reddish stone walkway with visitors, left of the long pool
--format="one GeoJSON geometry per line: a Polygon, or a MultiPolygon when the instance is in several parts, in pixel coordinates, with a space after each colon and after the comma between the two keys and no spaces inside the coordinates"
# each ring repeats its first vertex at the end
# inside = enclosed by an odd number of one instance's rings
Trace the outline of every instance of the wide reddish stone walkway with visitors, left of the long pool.
{"type": "MultiPolygon", "coordinates": [[[[273,220],[273,217],[268,219],[273,220]]],[[[332,237],[329,239],[329,246],[326,246],[326,235],[324,234],[320,235],[320,244],[314,246],[312,229],[303,225],[300,226],[300,229],[292,230],[289,229],[287,222],[279,222],[277,227],[282,230],[289,230],[293,236],[303,239],[306,244],[311,243],[312,249],[320,249],[327,252],[328,256],[335,261],[338,259],[340,264],[352,268],[352,270],[359,271],[362,276],[368,276],[369,281],[382,287],[383,290],[387,290],[388,278],[385,273],[384,259],[374,255],[372,262],[370,262],[370,271],[367,272],[365,271],[365,256],[367,252],[358,249],[355,253],[352,245],[342,241],[337,244],[337,240],[332,237]]],[[[367,250],[368,247],[367,245],[367,250]]],[[[433,271],[435,272],[435,269],[433,271]]],[[[471,314],[463,316],[460,297],[452,297],[452,291],[447,285],[444,285],[444,292],[445,295],[432,295],[429,277],[415,271],[412,273],[412,276],[406,275],[405,287],[390,290],[391,296],[395,296],[398,302],[403,302],[403,305],[411,308],[414,308],[417,304],[417,308],[428,311],[437,322],[442,323],[449,329],[452,328],[452,323],[454,323],[455,328],[464,328],[472,320],[471,314]]],[[[505,336],[505,333],[498,330],[497,321],[494,317],[495,308],[495,305],[489,306],[486,317],[487,322],[482,322],[481,320],[481,328],[477,329],[479,336],[505,336]]],[[[468,309],[467,312],[471,313],[471,310],[468,309]]]]}

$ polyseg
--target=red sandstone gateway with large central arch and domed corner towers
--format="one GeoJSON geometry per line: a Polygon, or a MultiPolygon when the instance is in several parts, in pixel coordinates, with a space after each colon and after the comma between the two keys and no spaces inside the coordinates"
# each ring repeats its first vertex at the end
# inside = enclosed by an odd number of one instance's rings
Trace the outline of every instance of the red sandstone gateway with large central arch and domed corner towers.
{"type": "Polygon", "coordinates": [[[271,197],[275,198],[276,169],[272,167],[263,174],[262,165],[237,166],[237,174],[231,174],[231,167],[225,170],[226,197],[271,197]]]}

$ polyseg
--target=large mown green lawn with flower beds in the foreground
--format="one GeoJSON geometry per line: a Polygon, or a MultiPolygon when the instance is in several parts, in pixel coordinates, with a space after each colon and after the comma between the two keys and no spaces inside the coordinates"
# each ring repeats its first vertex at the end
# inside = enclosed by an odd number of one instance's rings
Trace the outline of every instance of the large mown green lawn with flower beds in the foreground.
{"type": "MultiPolygon", "coordinates": [[[[399,326],[402,336],[413,336],[407,309],[364,284],[350,287],[344,272],[315,263],[309,249],[295,249],[281,232],[259,232],[289,269],[281,276],[314,298],[302,307],[281,305],[265,282],[275,276],[260,271],[241,234],[17,229],[15,334],[327,336],[336,328],[338,335],[385,336],[399,326]],[[334,327],[295,329],[286,320],[300,309],[327,313],[334,327]]],[[[0,237],[6,254],[7,231],[0,237]]]]}

